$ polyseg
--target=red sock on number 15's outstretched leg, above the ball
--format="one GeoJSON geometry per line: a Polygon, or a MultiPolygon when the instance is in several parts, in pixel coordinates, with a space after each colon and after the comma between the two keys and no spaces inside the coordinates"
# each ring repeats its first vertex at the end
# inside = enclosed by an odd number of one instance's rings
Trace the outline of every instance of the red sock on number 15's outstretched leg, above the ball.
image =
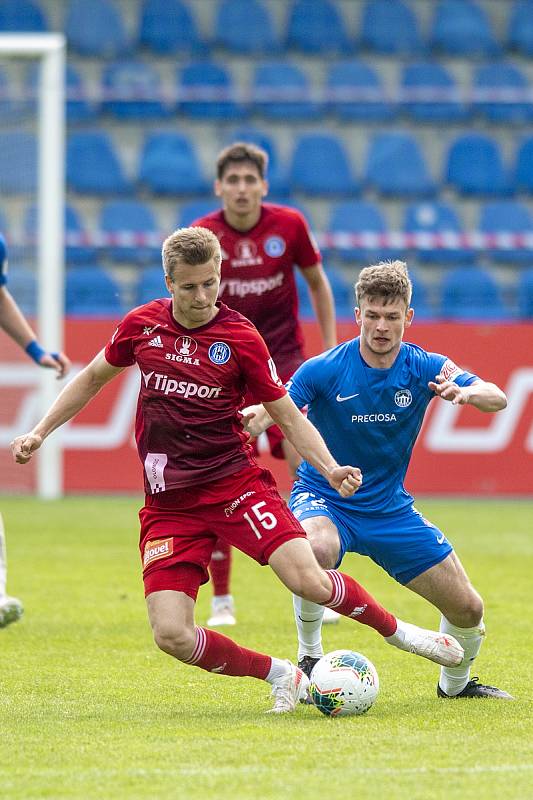
{"type": "Polygon", "coordinates": [[[382,636],[392,636],[397,628],[396,617],[393,614],[380,606],[377,600],[374,600],[372,595],[349,575],[337,572],[336,569],[328,569],[326,572],[333,583],[333,593],[324,605],[334,608],[345,617],[362,622],[363,625],[370,625],[382,636]]]}

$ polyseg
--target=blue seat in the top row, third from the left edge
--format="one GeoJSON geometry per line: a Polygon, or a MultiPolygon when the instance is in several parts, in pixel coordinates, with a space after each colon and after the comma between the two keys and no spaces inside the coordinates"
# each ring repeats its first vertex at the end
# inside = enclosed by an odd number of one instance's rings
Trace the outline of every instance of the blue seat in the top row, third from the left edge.
{"type": "Polygon", "coordinates": [[[204,53],[190,4],[182,0],[144,0],[140,42],[158,55],[204,53]]]}

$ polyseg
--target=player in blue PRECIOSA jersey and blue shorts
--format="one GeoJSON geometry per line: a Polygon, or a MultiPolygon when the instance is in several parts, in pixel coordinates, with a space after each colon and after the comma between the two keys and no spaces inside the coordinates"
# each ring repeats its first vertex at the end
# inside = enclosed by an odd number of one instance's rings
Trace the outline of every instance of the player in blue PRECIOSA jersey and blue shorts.
{"type": "MultiPolygon", "coordinates": [[[[505,395],[446,356],[403,342],[414,314],[403,262],[363,269],[355,291],[360,336],[302,364],[289,392],[299,408],[308,407],[309,419],[339,463],[358,464],[363,483],[353,497],[335,497],[303,462],[290,508],[322,566],[337,566],[346,552],[369,556],[440,610],[441,631],[461,643],[465,658],[458,667],[441,670],[439,697],[512,699],[470,678],[485,634],[483,602],[444,533],[416,510],[403,485],[434,397],[491,412],[505,408],[505,395]]],[[[262,409],[250,409],[250,433],[257,435],[268,424],[262,409]]],[[[322,609],[298,597],[294,604],[299,662],[310,671],[323,652],[322,609]]]]}

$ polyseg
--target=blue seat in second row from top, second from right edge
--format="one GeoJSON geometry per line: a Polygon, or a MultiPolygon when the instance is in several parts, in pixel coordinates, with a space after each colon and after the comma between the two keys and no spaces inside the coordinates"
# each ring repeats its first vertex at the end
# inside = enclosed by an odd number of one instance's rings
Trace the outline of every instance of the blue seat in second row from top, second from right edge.
{"type": "Polygon", "coordinates": [[[463,122],[470,116],[455,79],[434,61],[407,64],[401,92],[402,108],[416,122],[463,122]]]}

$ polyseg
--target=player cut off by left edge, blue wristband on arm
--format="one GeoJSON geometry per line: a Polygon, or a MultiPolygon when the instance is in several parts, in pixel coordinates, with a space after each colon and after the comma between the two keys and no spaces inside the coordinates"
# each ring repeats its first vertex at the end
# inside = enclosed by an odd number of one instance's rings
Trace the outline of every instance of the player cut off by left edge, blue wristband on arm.
{"type": "MultiPolygon", "coordinates": [[[[37,364],[55,369],[58,378],[62,378],[70,367],[70,361],[64,353],[48,353],[41,347],[6,284],[7,250],[4,237],[0,235],[0,328],[37,364]]],[[[6,548],[0,516],[0,628],[16,622],[22,616],[22,612],[20,600],[6,594],[6,548]]]]}

